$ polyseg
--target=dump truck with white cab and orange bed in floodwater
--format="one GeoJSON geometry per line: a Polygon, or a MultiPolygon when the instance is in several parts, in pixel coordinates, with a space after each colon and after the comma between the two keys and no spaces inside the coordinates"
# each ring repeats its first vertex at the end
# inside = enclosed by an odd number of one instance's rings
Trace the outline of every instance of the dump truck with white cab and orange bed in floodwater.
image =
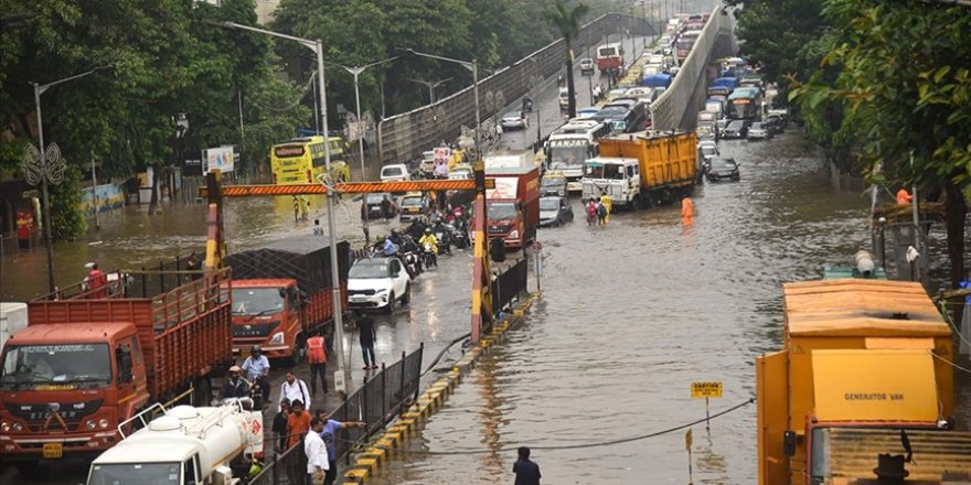
{"type": "Polygon", "coordinates": [[[600,155],[584,163],[583,197],[611,198],[613,207],[669,204],[694,191],[697,136],[641,131],[600,139],[600,155]]]}

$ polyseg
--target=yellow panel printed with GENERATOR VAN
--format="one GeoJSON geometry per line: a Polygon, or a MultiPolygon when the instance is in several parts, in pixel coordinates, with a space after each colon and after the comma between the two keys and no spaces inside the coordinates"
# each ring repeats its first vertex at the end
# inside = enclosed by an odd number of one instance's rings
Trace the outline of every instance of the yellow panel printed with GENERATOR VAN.
{"type": "Polygon", "coordinates": [[[820,421],[925,421],[938,418],[931,351],[813,351],[820,421]]]}

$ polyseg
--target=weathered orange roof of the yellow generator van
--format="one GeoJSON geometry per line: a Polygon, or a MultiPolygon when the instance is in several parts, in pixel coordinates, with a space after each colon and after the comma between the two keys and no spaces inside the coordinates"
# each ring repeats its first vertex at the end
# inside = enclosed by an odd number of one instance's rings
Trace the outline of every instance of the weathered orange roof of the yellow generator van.
{"type": "Polygon", "coordinates": [[[916,282],[821,280],[782,285],[791,336],[931,337],[950,335],[916,282]]]}

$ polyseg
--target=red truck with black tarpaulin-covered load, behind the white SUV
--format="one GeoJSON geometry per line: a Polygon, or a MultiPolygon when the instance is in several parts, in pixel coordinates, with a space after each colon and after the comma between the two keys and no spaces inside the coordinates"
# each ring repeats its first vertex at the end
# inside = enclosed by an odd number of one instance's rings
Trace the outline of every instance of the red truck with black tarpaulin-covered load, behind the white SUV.
{"type": "MultiPolygon", "coordinates": [[[[338,242],[341,311],[348,311],[350,245],[338,242]]],[[[233,269],[233,351],[253,345],[269,358],[296,365],[310,333],[333,334],[330,247],[321,236],[279,239],[260,249],[226,257],[233,269]]]]}

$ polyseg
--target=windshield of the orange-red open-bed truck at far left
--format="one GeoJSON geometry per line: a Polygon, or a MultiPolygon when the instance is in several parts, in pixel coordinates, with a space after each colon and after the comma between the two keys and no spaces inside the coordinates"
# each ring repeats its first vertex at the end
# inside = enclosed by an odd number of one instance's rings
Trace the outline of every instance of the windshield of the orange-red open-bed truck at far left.
{"type": "Polygon", "coordinates": [[[8,345],[0,386],[11,389],[51,382],[81,387],[111,384],[108,344],[8,345]]]}

